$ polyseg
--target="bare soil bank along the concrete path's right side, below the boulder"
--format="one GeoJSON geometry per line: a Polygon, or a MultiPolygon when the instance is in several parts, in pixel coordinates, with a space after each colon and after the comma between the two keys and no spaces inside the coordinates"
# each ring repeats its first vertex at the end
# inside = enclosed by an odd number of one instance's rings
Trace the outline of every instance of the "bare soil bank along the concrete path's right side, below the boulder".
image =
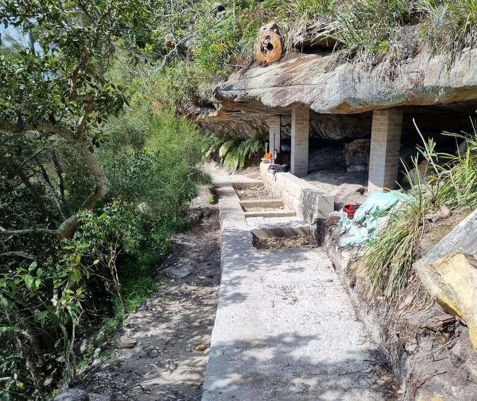
{"type": "MultiPolygon", "coordinates": [[[[434,225],[421,243],[423,254],[463,216],[456,214],[434,225]]],[[[416,301],[414,293],[398,304],[370,295],[366,277],[356,269],[363,249],[339,247],[336,225],[325,223],[320,230],[322,246],[348,288],[357,316],[387,355],[403,391],[401,399],[475,400],[477,355],[468,328],[440,306],[416,301]]]]}

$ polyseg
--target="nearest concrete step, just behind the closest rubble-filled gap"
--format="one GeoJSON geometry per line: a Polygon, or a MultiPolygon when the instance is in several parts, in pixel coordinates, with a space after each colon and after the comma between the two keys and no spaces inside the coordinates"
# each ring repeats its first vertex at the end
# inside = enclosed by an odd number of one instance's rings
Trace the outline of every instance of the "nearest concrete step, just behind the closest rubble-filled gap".
{"type": "Polygon", "coordinates": [[[299,217],[249,217],[246,221],[252,234],[259,238],[310,234],[310,225],[299,217]]]}

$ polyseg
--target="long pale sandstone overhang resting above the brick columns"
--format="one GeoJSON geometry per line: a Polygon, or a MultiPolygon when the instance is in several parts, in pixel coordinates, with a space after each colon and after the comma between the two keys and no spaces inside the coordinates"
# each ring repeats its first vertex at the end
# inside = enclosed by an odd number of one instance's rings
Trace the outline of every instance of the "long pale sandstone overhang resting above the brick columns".
{"type": "Polygon", "coordinates": [[[477,49],[462,50],[448,68],[445,55],[421,53],[391,71],[359,62],[333,66],[334,55],[299,55],[230,75],[216,86],[221,102],[200,120],[283,113],[308,105],[317,113],[362,113],[394,106],[428,106],[477,99],[477,49]]]}

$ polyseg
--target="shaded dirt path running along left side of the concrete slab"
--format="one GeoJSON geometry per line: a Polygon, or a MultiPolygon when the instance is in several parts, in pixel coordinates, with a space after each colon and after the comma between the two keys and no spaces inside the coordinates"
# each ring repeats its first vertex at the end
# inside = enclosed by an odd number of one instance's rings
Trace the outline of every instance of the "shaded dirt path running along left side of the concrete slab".
{"type": "Polygon", "coordinates": [[[200,399],[220,280],[218,209],[200,198],[203,217],[172,239],[160,267],[167,277],[129,315],[109,358],[75,384],[90,400],[200,399]]]}

